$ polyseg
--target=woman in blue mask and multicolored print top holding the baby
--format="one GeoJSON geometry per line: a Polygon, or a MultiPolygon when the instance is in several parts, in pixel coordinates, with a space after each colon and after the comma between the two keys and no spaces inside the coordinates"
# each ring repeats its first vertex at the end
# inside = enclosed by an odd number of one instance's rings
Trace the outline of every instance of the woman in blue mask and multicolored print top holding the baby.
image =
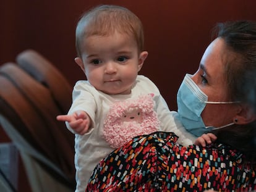
{"type": "Polygon", "coordinates": [[[137,136],[98,164],[86,191],[256,190],[255,72],[256,23],[219,24],[177,93],[184,127],[217,140],[184,147],[174,133],[137,136]]]}

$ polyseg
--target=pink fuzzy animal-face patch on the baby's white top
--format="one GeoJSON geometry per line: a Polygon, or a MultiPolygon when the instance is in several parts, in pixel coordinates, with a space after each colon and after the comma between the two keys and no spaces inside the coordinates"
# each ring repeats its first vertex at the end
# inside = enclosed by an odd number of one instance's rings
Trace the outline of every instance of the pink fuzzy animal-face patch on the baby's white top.
{"type": "Polygon", "coordinates": [[[154,111],[153,94],[118,101],[110,107],[103,137],[112,148],[119,148],[135,136],[157,131],[160,121],[154,111]]]}

